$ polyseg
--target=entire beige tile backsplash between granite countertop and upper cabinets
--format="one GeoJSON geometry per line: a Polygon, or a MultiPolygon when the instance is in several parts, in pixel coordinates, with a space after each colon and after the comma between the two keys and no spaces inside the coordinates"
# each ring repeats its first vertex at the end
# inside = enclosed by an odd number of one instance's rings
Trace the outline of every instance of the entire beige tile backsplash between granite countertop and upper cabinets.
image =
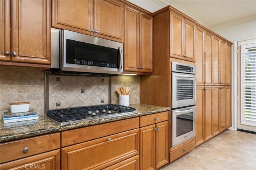
{"type": "MultiPolygon", "coordinates": [[[[132,89],[130,104],[140,103],[139,76],[111,77],[111,94],[109,77],[49,75],[48,85],[49,109],[108,104],[109,97],[111,103],[119,104],[116,89],[123,86],[132,89]],[[60,106],[57,107],[56,103],[60,106]]],[[[30,102],[30,109],[39,115],[44,114],[44,86],[42,68],[0,65],[0,119],[5,111],[10,110],[10,103],[18,102],[30,102]]]]}

